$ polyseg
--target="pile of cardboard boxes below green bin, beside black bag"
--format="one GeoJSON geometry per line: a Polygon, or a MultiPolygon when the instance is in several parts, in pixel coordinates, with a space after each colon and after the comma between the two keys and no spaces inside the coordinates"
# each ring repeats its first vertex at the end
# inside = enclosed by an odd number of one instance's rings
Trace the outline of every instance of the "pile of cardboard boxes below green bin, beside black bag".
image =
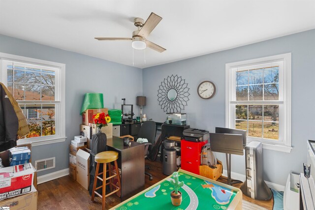
{"type": "MultiPolygon", "coordinates": [[[[74,138],[74,141],[71,141],[70,145],[69,175],[87,190],[89,189],[90,182],[90,143],[92,135],[97,133],[97,126],[94,124],[93,115],[101,112],[108,114],[108,109],[88,109],[83,112],[82,124],[80,125],[81,138],[74,138]]],[[[105,133],[107,138],[112,138],[113,124],[108,123],[107,126],[102,127],[101,132],[105,133]]]]}

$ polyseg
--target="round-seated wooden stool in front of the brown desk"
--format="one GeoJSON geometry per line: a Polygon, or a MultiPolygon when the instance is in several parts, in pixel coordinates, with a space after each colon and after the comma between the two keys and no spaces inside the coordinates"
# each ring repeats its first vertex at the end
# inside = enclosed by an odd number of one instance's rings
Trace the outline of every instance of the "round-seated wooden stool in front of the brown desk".
{"type": "Polygon", "coordinates": [[[102,198],[102,210],[105,210],[105,198],[107,196],[110,196],[111,194],[121,190],[120,174],[119,174],[119,169],[118,169],[118,165],[117,165],[117,159],[118,159],[118,152],[117,151],[103,151],[103,152],[97,153],[95,155],[96,169],[95,169],[95,179],[94,179],[94,184],[93,184],[91,200],[94,201],[95,194],[98,195],[99,197],[101,197],[102,198]],[[111,168],[110,168],[111,162],[114,162],[116,173],[111,171],[111,168]],[[101,163],[103,164],[103,172],[98,173],[99,165],[101,163]],[[106,171],[106,165],[108,165],[107,171],[106,171]],[[108,172],[108,174],[109,174],[109,177],[107,177],[107,178],[106,178],[106,172],[108,172]],[[112,175],[112,173],[114,175],[112,175]],[[98,175],[101,175],[101,174],[103,174],[103,178],[98,177],[98,175]],[[116,184],[114,184],[114,182],[112,180],[114,177],[117,177],[117,179],[118,179],[118,182],[117,182],[118,186],[116,184]],[[103,184],[99,187],[96,187],[97,179],[99,179],[103,182],[103,184]],[[108,183],[106,183],[107,180],[109,180],[108,183]],[[106,190],[107,184],[109,184],[111,192],[106,195],[105,190],[106,190]],[[113,186],[114,186],[115,190],[113,190],[113,186]],[[99,188],[102,188],[102,195],[100,195],[99,193],[96,192],[96,190],[99,188]]]}

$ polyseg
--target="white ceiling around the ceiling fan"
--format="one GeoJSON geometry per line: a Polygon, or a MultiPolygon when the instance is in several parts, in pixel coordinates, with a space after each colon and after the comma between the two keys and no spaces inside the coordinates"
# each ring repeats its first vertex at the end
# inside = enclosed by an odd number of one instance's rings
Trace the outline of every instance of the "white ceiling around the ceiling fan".
{"type": "Polygon", "coordinates": [[[311,29],[314,0],[0,0],[1,34],[140,68],[311,29]],[[163,53],[94,39],[131,37],[151,12],[163,53]]]}

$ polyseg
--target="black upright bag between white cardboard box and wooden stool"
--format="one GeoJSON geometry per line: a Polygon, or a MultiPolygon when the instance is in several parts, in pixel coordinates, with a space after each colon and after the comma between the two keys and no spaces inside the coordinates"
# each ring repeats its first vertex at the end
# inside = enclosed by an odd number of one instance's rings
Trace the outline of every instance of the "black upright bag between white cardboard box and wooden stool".
{"type": "MultiPolygon", "coordinates": [[[[91,153],[90,153],[90,195],[92,195],[96,163],[95,163],[95,155],[99,152],[106,151],[107,137],[105,133],[96,133],[93,134],[92,140],[90,141],[91,153]]],[[[103,167],[99,167],[98,173],[103,171],[103,167]]],[[[102,185],[100,180],[97,180],[97,185],[102,185]]],[[[96,190],[99,194],[102,194],[102,189],[96,190]]],[[[97,196],[97,195],[96,195],[97,196]]]]}

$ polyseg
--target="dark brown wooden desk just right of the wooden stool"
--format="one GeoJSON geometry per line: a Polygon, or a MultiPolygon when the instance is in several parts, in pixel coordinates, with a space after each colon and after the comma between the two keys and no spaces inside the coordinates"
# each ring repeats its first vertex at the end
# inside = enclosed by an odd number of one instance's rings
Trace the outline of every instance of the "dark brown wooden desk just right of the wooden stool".
{"type": "Polygon", "coordinates": [[[124,140],[113,136],[107,139],[107,150],[117,151],[118,167],[122,170],[121,198],[138,192],[144,186],[144,145],[130,141],[130,146],[124,146],[124,140]]]}

